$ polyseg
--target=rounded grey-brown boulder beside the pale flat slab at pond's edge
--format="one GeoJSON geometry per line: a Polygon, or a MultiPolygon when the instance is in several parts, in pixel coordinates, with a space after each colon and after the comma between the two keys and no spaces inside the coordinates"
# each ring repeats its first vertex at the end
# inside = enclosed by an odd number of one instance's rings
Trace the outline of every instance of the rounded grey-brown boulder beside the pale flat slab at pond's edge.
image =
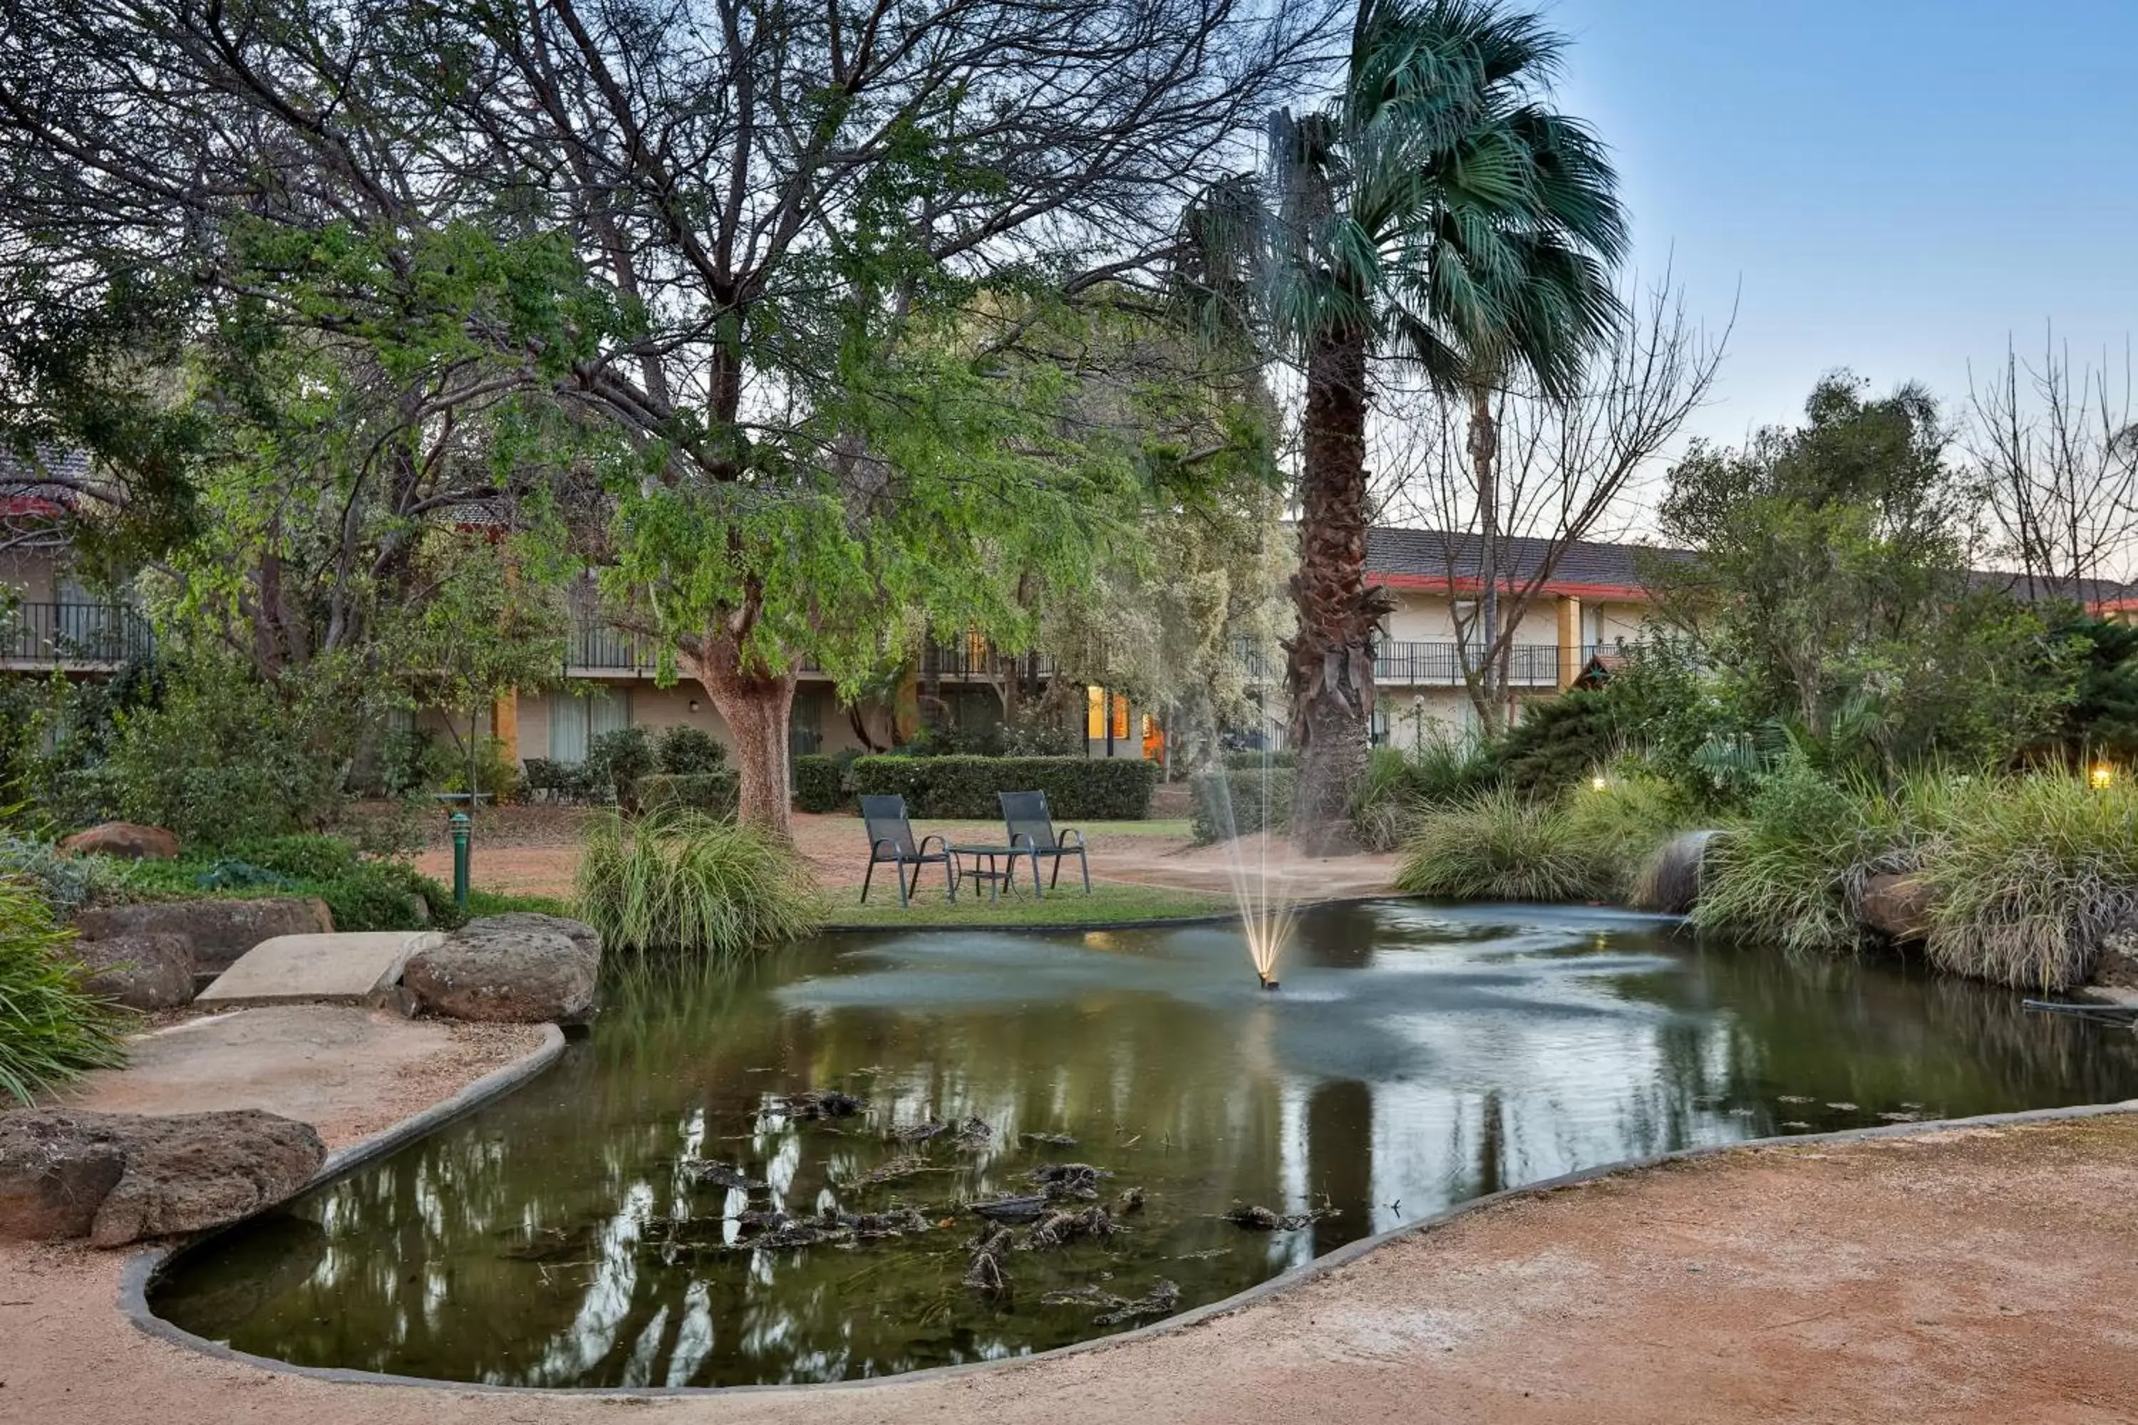
{"type": "Polygon", "coordinates": [[[468,921],[443,944],[417,951],[402,985],[417,1006],[451,1019],[579,1023],[594,1011],[601,936],[554,914],[468,921]]]}

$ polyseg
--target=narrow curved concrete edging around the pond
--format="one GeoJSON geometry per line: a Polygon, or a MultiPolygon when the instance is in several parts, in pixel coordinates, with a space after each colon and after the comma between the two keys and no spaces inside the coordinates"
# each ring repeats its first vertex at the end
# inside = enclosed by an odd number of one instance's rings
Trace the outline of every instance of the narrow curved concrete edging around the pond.
{"type": "MultiPolygon", "coordinates": [[[[515,1064],[490,1072],[468,1087],[460,1090],[445,1102],[438,1102],[415,1117],[402,1119],[393,1128],[378,1132],[361,1143],[355,1143],[321,1166],[321,1171],[306,1184],[306,1192],[329,1184],[338,1177],[353,1173],[355,1169],[383,1158],[400,1147],[406,1147],[415,1139],[443,1128],[445,1124],[472,1113],[475,1109],[502,1098],[515,1087],[532,1081],[549,1064],[564,1053],[564,1034],[556,1025],[545,1025],[545,1043],[541,1049],[522,1058],[515,1064]]],[[[1830,1143],[1862,1143],[1871,1139],[1920,1139],[1935,1137],[1941,1132],[1967,1130],[1967,1128],[2012,1128],[2029,1124],[2061,1124],[2078,1122],[2089,1117],[2114,1117],[2125,1113],[2138,1113],[2138,1098],[2127,1098],[2123,1102],[2106,1105],[2074,1105],[2063,1109],[2023,1109],[2018,1113],[1980,1113],[1976,1117],[1946,1117],[1926,1119],[1920,1124],[1877,1124],[1871,1128],[1843,1128],[1837,1132],[1802,1132],[1802,1134],[1781,1134],[1768,1139],[1745,1139],[1740,1143],[1710,1143],[1706,1147],[1680,1147],[1670,1154],[1651,1154],[1646,1158],[1623,1158],[1618,1162],[1606,1162],[1593,1169],[1582,1169],[1578,1173],[1563,1173],[1559,1177],[1548,1177],[1533,1184],[1522,1184],[1516,1188],[1503,1188],[1486,1196],[1469,1199],[1467,1203],[1456,1203],[1430,1218],[1420,1218],[1417,1222],[1405,1222],[1385,1233],[1375,1233],[1373,1237],[1360,1237],[1358,1241],[1345,1243],[1334,1252],[1317,1256],[1291,1271],[1283,1271],[1268,1282],[1257,1282],[1246,1290],[1238,1290],[1221,1301],[1208,1301],[1197,1307],[1189,1307],[1176,1316],[1155,1320],[1146,1327],[1135,1327],[1133,1331],[1120,1331],[1114,1335],[1095,1335],[1086,1342],[1071,1342],[1069,1346],[1056,1346],[1052,1350],[1039,1350],[1022,1357],[1003,1357],[996,1361],[966,1361],[962,1365],[932,1365],[917,1372],[904,1372],[898,1376],[872,1376],[862,1380],[821,1380],[808,1384],[727,1384],[727,1387],[522,1387],[522,1384],[483,1384],[472,1380],[436,1380],[430,1376],[393,1376],[387,1372],[363,1372],[336,1365],[293,1365],[289,1361],[278,1361],[274,1357],[252,1354],[248,1350],[235,1350],[220,1342],[195,1335],[184,1327],[156,1316],[148,1305],[148,1288],[154,1284],[158,1271],[182,1250],[188,1250],[199,1237],[188,1243],[152,1248],[148,1252],[135,1254],[126,1263],[126,1271],[120,1280],[120,1310],[139,1327],[143,1333],[171,1342],[207,1357],[222,1361],[233,1361],[242,1365],[252,1365],[263,1372],[274,1372],[280,1376],[304,1376],[310,1380],[325,1380],[329,1384],[366,1384],[366,1387],[400,1387],[400,1389],[423,1389],[423,1391],[453,1391],[453,1393],[481,1393],[481,1395],[584,1395],[584,1397],[691,1397],[691,1395],[765,1395],[765,1393],[821,1393],[821,1391],[896,1391],[907,1384],[926,1384],[934,1380],[951,1380],[956,1376],[973,1376],[981,1372],[1005,1372],[1026,1365],[1041,1365],[1048,1361],[1063,1361],[1067,1357],[1084,1354],[1090,1350],[1114,1350],[1120,1346],[1131,1346],[1135,1342],[1146,1342],[1159,1335],[1169,1335],[1174,1331],[1187,1331],[1199,1327],[1208,1320],[1221,1316],[1231,1316],[1251,1305],[1259,1305],[1274,1297],[1287,1295],[1315,1282],[1332,1271],[1349,1267],[1362,1256],[1385,1248],[1392,1241],[1403,1241],[1407,1237],[1422,1237],[1452,1222],[1469,1218],[1479,1211],[1499,1207],[1501,1203],[1512,1203],[1520,1199],[1548,1196],[1563,1192],[1567,1188],[1580,1188],[1586,1184],[1604,1181],[1606,1177],[1623,1177],[1631,1173],[1642,1173],[1678,1162],[1698,1162],[1704,1158],[1719,1158],[1723,1154],[1740,1154],[1751,1149],[1772,1149],[1772,1147],[1804,1147],[1804,1145],[1830,1145],[1830,1143]]],[[[233,1224],[235,1226],[235,1224],[233,1224]]],[[[216,1228],[218,1233],[231,1228],[216,1228]]],[[[210,1233],[207,1237],[212,1237],[210,1233]]]]}

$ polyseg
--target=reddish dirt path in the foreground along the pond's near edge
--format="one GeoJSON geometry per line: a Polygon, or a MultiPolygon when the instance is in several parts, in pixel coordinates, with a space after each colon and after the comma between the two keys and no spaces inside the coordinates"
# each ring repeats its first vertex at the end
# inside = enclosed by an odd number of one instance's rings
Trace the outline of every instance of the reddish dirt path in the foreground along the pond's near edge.
{"type": "Polygon", "coordinates": [[[0,1421],[2129,1421],[2138,1119],[1747,1149],[1516,1199],[1172,1335],[866,1389],[481,1395],[150,1340],[0,1250],[0,1421]]]}

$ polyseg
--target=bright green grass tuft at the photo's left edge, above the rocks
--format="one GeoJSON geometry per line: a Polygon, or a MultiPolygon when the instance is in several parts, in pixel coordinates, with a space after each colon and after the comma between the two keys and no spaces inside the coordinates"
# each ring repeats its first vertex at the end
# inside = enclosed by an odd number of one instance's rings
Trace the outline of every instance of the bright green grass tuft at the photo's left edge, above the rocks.
{"type": "Polygon", "coordinates": [[[0,878],[0,1098],[30,1102],[126,1058],[126,1015],[81,989],[71,944],[28,884],[0,878]]]}

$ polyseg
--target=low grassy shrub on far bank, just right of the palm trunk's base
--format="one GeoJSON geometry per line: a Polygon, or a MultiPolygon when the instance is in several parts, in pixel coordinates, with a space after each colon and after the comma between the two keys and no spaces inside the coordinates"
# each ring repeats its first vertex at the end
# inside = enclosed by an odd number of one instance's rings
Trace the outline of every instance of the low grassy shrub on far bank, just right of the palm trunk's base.
{"type": "Polygon", "coordinates": [[[1420,814],[1396,889],[1439,899],[1578,902],[1597,895],[1604,880],[1595,844],[1563,808],[1501,786],[1420,814]]]}

